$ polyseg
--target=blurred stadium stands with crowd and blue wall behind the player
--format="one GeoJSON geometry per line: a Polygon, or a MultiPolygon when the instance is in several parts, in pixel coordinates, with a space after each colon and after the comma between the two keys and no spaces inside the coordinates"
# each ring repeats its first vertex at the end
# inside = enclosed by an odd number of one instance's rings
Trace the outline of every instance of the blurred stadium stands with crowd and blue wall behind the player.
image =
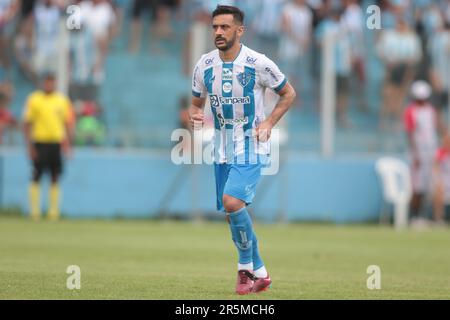
{"type": "MultiPolygon", "coordinates": [[[[221,218],[212,167],[170,160],[173,130],[187,128],[193,66],[214,49],[218,3],[245,12],[244,44],[297,90],[278,127],[280,170],[263,177],[255,217],[390,222],[403,212],[408,173],[391,181],[398,170],[377,163],[410,160],[403,112],[413,81],[431,85],[449,122],[449,0],[0,0],[0,207],[28,212],[22,112],[51,70],[76,115],[64,216],[221,218]]],[[[266,98],[270,109],[276,96],[266,98]]],[[[431,219],[432,199],[419,216],[431,219]]]]}

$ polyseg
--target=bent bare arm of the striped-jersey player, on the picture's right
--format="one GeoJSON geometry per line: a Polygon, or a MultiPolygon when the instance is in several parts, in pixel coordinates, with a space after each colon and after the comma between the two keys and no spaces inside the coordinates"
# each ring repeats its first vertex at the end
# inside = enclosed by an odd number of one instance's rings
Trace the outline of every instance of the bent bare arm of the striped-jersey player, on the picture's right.
{"type": "Polygon", "coordinates": [[[289,82],[286,82],[284,87],[278,91],[278,95],[280,99],[272,110],[272,113],[256,128],[256,136],[259,141],[264,142],[269,140],[272,128],[289,110],[296,97],[295,90],[289,82]]]}

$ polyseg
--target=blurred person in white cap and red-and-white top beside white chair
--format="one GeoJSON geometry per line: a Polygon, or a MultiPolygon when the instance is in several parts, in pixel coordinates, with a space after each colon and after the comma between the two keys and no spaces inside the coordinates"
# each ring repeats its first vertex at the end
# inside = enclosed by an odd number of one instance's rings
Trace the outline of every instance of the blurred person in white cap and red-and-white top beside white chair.
{"type": "Polygon", "coordinates": [[[415,81],[411,86],[411,95],[413,102],[405,110],[404,124],[411,157],[411,216],[414,223],[414,220],[421,220],[423,198],[431,191],[438,132],[443,132],[444,129],[435,108],[429,103],[431,86],[422,80],[415,81]]]}

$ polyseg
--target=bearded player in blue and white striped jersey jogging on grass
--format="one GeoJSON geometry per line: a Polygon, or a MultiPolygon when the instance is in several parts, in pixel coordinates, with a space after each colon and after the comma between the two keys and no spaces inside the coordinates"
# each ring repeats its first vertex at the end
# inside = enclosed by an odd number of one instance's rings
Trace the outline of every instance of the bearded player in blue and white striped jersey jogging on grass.
{"type": "Polygon", "coordinates": [[[272,282],[258,252],[247,206],[268,161],[271,130],[295,99],[294,89],[279,68],[241,43],[243,22],[244,13],[236,7],[219,5],[212,13],[217,50],[203,55],[195,66],[190,107],[191,123],[197,129],[209,96],[215,126],[217,209],[226,212],[238,250],[238,294],[264,291],[272,282]],[[266,88],[280,96],[267,118],[266,88]]]}

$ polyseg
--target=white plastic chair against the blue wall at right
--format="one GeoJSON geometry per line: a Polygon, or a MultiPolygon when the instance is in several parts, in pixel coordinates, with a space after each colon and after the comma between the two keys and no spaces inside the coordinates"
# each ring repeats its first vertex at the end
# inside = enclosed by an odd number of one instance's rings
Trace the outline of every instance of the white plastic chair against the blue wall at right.
{"type": "Polygon", "coordinates": [[[377,160],[376,171],[383,185],[383,197],[394,205],[394,226],[397,230],[408,225],[409,203],[412,197],[411,173],[404,161],[383,157],[377,160]]]}

